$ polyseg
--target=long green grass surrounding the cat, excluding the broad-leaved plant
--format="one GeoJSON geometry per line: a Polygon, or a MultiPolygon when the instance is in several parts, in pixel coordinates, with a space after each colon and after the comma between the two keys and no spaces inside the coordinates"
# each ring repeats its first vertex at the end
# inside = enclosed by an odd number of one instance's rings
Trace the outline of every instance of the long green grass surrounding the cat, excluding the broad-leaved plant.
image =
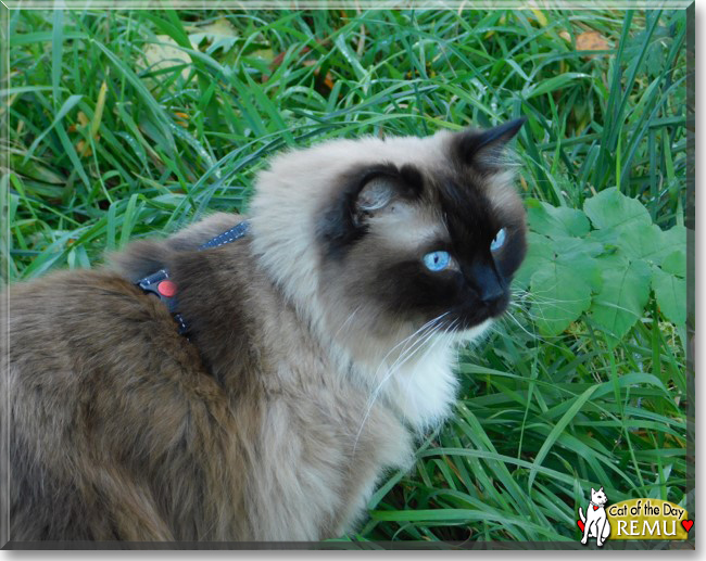
{"type": "MultiPolygon", "coordinates": [[[[10,281],[247,211],[286,146],[519,115],[524,196],[581,208],[617,186],[663,229],[683,219],[684,11],[12,11],[9,25],[10,281]],[[578,51],[587,30],[607,48],[578,51]],[[140,63],[166,36],[187,56],[140,63]]],[[[612,502],[686,505],[681,327],[651,297],[613,348],[589,317],[542,337],[528,309],[462,355],[455,416],[350,539],[576,540],[600,485],[612,502]]]]}

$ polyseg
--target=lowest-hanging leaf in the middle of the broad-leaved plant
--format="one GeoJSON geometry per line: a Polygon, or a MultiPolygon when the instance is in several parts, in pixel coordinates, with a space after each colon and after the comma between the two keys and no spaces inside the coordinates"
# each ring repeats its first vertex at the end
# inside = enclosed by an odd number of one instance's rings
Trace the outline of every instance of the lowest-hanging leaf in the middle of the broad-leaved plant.
{"type": "Polygon", "coordinates": [[[650,297],[651,271],[642,260],[619,256],[598,257],[603,267],[603,289],[594,297],[591,315],[615,345],[642,316],[650,297]]]}

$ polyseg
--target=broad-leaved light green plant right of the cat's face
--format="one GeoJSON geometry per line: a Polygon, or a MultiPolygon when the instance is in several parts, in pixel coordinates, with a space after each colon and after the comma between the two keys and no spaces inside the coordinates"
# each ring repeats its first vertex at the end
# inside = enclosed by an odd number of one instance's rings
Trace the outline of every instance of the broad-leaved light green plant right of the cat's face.
{"type": "Polygon", "coordinates": [[[686,321],[686,229],[663,230],[617,188],[587,199],[583,211],[530,199],[528,257],[518,272],[545,335],[588,315],[615,346],[643,316],[654,292],[661,313],[686,321]]]}

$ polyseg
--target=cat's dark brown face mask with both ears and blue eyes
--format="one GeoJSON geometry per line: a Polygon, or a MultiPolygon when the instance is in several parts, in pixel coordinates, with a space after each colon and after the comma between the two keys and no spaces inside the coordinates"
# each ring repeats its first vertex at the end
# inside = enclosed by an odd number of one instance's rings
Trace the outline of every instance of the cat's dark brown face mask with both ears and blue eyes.
{"type": "Polygon", "coordinates": [[[466,330],[502,315],[526,252],[525,212],[503,164],[524,122],[446,135],[428,158],[343,174],[316,225],[324,282],[343,278],[340,297],[373,299],[398,320],[443,316],[447,329],[466,330]]]}

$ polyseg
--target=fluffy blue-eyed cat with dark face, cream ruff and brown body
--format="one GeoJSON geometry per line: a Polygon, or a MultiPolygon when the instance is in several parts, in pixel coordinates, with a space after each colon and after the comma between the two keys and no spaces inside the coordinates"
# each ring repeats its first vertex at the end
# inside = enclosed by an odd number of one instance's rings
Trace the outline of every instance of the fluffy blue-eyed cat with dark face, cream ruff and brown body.
{"type": "Polygon", "coordinates": [[[231,243],[198,251],[244,219],[216,214],[11,286],[10,539],[354,527],[450,413],[454,345],[506,309],[526,226],[502,156],[522,123],[287,152],[231,243]],[[135,284],[160,269],[185,334],[135,284]]]}

